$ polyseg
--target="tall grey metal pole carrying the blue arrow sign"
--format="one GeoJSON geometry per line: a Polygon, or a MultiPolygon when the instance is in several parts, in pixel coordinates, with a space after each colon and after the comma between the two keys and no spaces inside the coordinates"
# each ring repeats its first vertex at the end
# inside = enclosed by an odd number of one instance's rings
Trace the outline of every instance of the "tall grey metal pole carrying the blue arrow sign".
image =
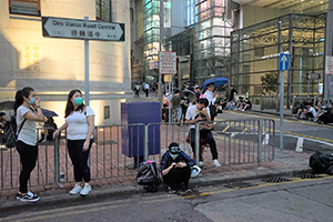
{"type": "MultiPolygon", "coordinates": [[[[281,27],[282,27],[282,21],[279,21],[279,42],[278,42],[278,54],[281,52],[281,27]]],[[[278,59],[278,62],[279,59],[278,59]]],[[[280,150],[283,150],[283,95],[284,95],[284,71],[280,72],[280,150]]]]}

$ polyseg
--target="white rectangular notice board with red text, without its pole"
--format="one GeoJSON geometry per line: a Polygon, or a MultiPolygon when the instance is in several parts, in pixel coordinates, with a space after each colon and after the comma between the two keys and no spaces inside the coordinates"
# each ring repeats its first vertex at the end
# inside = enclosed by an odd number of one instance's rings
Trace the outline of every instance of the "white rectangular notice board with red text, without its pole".
{"type": "Polygon", "coordinates": [[[176,74],[176,53],[175,52],[159,52],[160,74],[176,74]]]}

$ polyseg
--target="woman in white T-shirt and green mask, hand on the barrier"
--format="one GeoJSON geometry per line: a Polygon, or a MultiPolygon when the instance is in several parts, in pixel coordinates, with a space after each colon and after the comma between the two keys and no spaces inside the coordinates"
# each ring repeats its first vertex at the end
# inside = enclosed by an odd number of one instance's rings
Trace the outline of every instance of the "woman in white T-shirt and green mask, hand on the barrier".
{"type": "Polygon", "coordinates": [[[88,158],[93,142],[94,113],[83,104],[82,92],[72,90],[65,105],[65,123],[53,133],[53,139],[67,129],[68,151],[73,164],[75,185],[70,194],[88,195],[92,190],[88,158]]]}

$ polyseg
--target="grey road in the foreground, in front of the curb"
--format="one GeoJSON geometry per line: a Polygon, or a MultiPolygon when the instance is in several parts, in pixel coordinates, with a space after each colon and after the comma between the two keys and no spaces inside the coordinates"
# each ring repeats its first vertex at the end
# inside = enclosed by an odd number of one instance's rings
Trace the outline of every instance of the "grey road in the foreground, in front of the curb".
{"type": "MultiPolygon", "coordinates": [[[[179,221],[179,222],[331,222],[333,176],[284,178],[285,182],[262,180],[196,188],[190,196],[138,193],[130,196],[82,199],[1,212],[0,221],[179,221]]],[[[32,204],[33,205],[33,204],[32,204]]]]}

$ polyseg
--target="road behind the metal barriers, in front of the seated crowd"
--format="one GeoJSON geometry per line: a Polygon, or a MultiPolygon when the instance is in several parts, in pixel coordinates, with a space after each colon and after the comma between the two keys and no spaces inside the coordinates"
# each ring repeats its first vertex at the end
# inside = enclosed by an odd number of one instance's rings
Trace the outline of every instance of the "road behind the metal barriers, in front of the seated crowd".
{"type": "MultiPolygon", "coordinates": [[[[249,121],[254,119],[272,119],[275,121],[275,138],[270,141],[270,144],[279,148],[280,137],[280,118],[274,114],[263,113],[249,113],[241,111],[224,111],[215,118],[215,121],[230,121],[242,120],[249,121]]],[[[222,123],[215,124],[215,132],[232,133],[243,132],[238,134],[240,139],[251,140],[251,129],[246,129],[243,124],[242,128],[232,128],[222,123]],[[244,131],[246,129],[246,131],[244,131]]],[[[304,139],[304,151],[333,151],[333,125],[332,124],[317,124],[310,121],[284,119],[284,149],[294,150],[299,138],[304,139]]],[[[252,137],[253,138],[253,137],[252,137]]]]}

